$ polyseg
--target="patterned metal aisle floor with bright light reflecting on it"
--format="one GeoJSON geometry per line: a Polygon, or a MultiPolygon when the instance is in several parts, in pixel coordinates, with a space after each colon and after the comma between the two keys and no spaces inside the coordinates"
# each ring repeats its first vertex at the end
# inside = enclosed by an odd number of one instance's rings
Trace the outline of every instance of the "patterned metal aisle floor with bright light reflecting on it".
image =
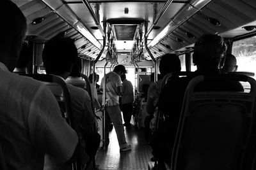
{"type": "Polygon", "coordinates": [[[132,146],[132,150],[120,153],[115,128],[109,132],[108,148],[106,150],[99,148],[97,153],[96,165],[100,170],[148,169],[152,150],[145,141],[143,131],[131,125],[131,127],[125,127],[125,136],[127,143],[132,146]]]}

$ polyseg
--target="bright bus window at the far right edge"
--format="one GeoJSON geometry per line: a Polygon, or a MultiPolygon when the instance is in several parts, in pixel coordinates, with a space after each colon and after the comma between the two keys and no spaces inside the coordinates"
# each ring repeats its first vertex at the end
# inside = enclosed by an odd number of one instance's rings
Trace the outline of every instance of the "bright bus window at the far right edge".
{"type": "Polygon", "coordinates": [[[232,54],[236,56],[237,71],[256,73],[256,36],[234,41],[232,54]]]}

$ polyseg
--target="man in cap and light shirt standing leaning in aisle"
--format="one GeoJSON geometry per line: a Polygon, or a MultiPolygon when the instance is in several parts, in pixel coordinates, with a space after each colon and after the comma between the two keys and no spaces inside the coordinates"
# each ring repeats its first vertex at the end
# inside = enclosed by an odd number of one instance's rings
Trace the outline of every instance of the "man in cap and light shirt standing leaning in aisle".
{"type": "Polygon", "coordinates": [[[131,145],[127,145],[125,139],[124,125],[119,108],[119,96],[122,96],[122,81],[120,76],[125,73],[124,66],[115,66],[114,70],[106,74],[100,83],[100,89],[103,89],[102,105],[106,106],[109,118],[114,124],[120,152],[131,150],[131,145]]]}

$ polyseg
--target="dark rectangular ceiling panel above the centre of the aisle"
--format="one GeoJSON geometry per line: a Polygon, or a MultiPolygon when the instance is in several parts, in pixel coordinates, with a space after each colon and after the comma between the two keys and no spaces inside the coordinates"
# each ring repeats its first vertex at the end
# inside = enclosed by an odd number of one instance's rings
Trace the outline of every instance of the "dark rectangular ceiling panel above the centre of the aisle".
{"type": "Polygon", "coordinates": [[[133,40],[137,25],[114,25],[117,40],[133,40]]]}

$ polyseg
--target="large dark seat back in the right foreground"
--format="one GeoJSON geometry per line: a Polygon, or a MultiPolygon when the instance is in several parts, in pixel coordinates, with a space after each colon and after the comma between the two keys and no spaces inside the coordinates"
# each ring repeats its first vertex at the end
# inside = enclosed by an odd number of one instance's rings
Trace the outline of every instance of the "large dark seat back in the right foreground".
{"type": "Polygon", "coordinates": [[[245,75],[198,76],[189,82],[172,152],[171,169],[241,169],[255,114],[256,81],[245,75]],[[195,92],[214,81],[248,81],[245,92],[195,92]]]}

